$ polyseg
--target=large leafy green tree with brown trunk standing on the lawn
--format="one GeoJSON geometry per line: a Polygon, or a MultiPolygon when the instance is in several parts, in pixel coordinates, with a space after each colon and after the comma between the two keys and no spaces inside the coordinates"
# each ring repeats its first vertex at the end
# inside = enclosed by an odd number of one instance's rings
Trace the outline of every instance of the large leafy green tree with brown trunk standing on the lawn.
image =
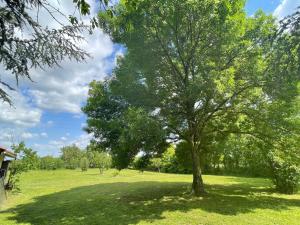
{"type": "Polygon", "coordinates": [[[205,192],[201,155],[213,141],[229,133],[269,137],[277,123],[268,110],[296,96],[296,60],[272,66],[282,59],[274,19],[262,12],[248,18],[243,0],[120,1],[114,16],[102,13],[100,21],[127,52],[106,85],[113,101],[91,87],[88,131],[107,141],[114,130],[99,121],[113,124],[122,114],[112,106],[142,108],[169,139],[188,143],[196,195],[205,192]],[[103,99],[107,105],[97,105],[103,99]]]}

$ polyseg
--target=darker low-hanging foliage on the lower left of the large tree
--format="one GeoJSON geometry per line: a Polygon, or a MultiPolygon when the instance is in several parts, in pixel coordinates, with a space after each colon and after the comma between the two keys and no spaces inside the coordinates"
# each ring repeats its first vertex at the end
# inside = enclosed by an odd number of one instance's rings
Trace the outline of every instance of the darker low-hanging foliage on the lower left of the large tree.
{"type": "Polygon", "coordinates": [[[95,136],[95,145],[111,154],[117,169],[126,168],[134,157],[164,150],[166,133],[151,114],[113,95],[107,82],[92,82],[83,111],[88,115],[86,130],[95,136]]]}

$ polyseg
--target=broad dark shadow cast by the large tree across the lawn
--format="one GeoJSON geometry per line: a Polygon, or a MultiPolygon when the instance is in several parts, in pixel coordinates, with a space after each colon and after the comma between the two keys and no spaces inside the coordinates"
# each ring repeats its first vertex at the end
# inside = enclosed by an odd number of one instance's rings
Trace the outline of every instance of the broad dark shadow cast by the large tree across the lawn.
{"type": "MultiPolygon", "coordinates": [[[[39,196],[34,202],[6,212],[17,223],[42,224],[137,224],[163,219],[165,211],[201,209],[222,215],[249,213],[255,209],[287,210],[300,200],[268,194],[270,189],[249,184],[207,185],[208,194],[193,197],[189,183],[119,182],[82,186],[39,196]]],[[[5,212],[2,212],[5,213],[5,212]]]]}

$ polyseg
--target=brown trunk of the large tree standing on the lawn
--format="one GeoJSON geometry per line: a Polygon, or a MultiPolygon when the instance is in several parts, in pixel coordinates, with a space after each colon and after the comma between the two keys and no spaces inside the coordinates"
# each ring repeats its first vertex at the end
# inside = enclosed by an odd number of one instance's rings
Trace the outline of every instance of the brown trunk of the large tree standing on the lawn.
{"type": "Polygon", "coordinates": [[[205,193],[204,184],[202,180],[199,153],[192,146],[192,160],[193,160],[193,191],[196,196],[205,193]]]}

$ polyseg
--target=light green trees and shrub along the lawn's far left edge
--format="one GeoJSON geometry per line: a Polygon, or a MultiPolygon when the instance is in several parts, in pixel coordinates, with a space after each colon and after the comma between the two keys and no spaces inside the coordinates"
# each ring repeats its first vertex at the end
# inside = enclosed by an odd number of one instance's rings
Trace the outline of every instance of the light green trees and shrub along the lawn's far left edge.
{"type": "Polygon", "coordinates": [[[12,146],[17,159],[9,167],[6,188],[18,190],[19,175],[29,170],[77,169],[87,171],[88,168],[99,168],[100,174],[111,168],[111,157],[89,145],[87,149],[80,149],[76,145],[61,148],[60,156],[39,156],[32,148],[26,147],[24,142],[12,146]]]}

